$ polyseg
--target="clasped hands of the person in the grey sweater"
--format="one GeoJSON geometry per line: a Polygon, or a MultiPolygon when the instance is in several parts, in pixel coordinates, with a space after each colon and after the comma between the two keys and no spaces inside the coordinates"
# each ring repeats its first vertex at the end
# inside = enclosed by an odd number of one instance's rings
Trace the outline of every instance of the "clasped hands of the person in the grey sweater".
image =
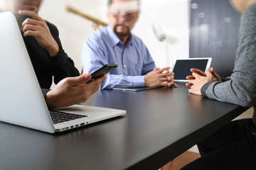
{"type": "Polygon", "coordinates": [[[220,77],[218,74],[215,74],[213,67],[206,69],[206,73],[199,69],[191,69],[191,72],[192,75],[186,77],[186,79],[188,79],[186,86],[191,87],[188,89],[188,92],[191,94],[202,95],[201,89],[204,84],[213,81],[220,81],[220,77]]]}

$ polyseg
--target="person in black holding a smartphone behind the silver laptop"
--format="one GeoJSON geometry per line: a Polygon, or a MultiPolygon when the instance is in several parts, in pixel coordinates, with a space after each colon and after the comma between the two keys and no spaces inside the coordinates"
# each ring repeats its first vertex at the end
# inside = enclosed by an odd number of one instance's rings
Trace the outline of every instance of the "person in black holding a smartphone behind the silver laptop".
{"type": "Polygon", "coordinates": [[[73,60],[63,50],[58,29],[38,16],[41,2],[2,0],[0,12],[11,11],[16,16],[47,105],[55,108],[84,102],[100,88],[105,77],[87,83],[90,74],[79,76],[73,60]],[[53,77],[57,85],[50,91],[53,77]]]}

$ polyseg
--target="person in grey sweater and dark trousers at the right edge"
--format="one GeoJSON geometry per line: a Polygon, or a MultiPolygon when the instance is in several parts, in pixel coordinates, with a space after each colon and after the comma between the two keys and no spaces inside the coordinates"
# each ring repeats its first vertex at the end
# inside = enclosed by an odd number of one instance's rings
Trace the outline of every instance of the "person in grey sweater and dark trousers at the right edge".
{"type": "Polygon", "coordinates": [[[198,143],[201,158],[182,169],[256,169],[256,1],[230,0],[242,12],[233,74],[220,79],[213,68],[191,69],[189,93],[254,108],[252,118],[235,120],[198,143]]]}

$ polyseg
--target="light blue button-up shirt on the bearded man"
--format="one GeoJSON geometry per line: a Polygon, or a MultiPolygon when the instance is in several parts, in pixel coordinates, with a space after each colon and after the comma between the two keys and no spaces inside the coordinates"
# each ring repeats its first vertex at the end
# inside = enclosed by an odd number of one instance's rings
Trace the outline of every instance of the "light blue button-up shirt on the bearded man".
{"type": "Polygon", "coordinates": [[[100,89],[144,86],[144,75],[156,67],[140,38],[131,35],[124,47],[110,26],[89,35],[81,55],[84,73],[92,73],[104,64],[118,64],[117,69],[107,74],[100,89]]]}

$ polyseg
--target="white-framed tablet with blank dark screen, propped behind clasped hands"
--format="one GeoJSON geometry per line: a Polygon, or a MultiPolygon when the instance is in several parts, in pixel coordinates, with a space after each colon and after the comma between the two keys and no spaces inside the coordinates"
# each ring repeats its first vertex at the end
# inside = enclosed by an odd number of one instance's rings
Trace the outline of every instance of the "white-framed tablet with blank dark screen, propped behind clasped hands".
{"type": "Polygon", "coordinates": [[[206,72],[206,69],[210,67],[212,58],[188,58],[176,60],[174,64],[174,81],[176,82],[188,82],[186,77],[191,75],[191,68],[200,69],[203,72],[206,72]]]}

